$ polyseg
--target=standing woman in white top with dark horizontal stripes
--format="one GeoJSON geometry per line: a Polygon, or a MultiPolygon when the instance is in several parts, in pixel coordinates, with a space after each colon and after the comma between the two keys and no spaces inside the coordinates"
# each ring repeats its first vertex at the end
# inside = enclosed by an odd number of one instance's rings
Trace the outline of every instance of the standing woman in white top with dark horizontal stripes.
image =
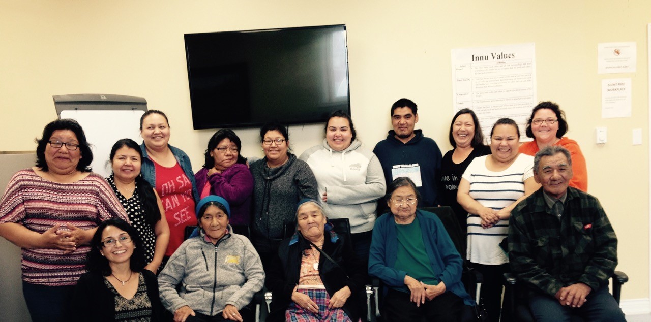
{"type": "Polygon", "coordinates": [[[508,255],[499,243],[508,235],[511,210],[540,185],[533,157],[518,154],[518,124],[501,118],[491,130],[491,155],[477,157],[464,172],[457,201],[468,211],[466,258],[484,275],[481,297],[491,321],[499,321],[508,255]]]}

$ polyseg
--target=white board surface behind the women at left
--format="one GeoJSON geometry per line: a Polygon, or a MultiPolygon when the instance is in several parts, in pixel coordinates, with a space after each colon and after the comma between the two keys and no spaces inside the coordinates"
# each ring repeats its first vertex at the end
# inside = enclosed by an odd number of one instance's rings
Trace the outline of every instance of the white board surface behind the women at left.
{"type": "MultiPolygon", "coordinates": [[[[113,144],[120,139],[132,139],[141,144],[140,118],[142,110],[85,111],[83,109],[61,111],[61,118],[72,118],[79,122],[92,144],[93,172],[107,177],[111,174],[109,154],[113,144]]],[[[83,155],[81,155],[83,158],[83,155]]]]}

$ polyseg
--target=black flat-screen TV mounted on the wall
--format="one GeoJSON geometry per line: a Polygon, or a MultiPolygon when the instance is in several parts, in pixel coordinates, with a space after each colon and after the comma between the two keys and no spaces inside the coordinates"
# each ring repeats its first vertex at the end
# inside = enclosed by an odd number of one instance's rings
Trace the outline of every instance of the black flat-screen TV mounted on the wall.
{"type": "Polygon", "coordinates": [[[195,129],[350,113],[346,25],[185,34],[195,129]]]}

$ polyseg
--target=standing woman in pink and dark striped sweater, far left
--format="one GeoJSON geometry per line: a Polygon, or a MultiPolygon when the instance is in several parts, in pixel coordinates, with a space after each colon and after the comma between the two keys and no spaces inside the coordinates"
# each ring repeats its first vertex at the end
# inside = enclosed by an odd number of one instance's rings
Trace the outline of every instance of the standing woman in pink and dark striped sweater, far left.
{"type": "Polygon", "coordinates": [[[92,173],[81,126],[50,122],[36,167],[14,174],[0,200],[0,236],[22,248],[23,296],[32,321],[59,321],[100,222],[127,220],[111,187],[92,173]]]}

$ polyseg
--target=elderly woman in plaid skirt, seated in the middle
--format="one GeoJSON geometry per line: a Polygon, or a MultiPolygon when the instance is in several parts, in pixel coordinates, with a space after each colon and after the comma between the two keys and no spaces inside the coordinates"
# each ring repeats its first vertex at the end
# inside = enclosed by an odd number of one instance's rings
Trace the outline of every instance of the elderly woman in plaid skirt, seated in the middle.
{"type": "Polygon", "coordinates": [[[323,208],[303,199],[296,234],[281,242],[266,281],[273,291],[267,321],[358,321],[363,303],[363,261],[345,234],[337,234],[323,208]]]}

